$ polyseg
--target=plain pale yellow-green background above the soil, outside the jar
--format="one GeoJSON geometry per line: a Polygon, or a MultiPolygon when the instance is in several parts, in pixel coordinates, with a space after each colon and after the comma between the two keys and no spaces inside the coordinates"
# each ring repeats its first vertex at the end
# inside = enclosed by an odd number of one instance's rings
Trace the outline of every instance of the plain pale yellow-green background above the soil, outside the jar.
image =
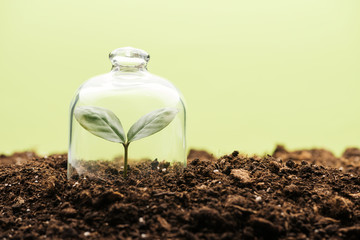
{"type": "Polygon", "coordinates": [[[189,147],[359,146],[358,0],[0,0],[0,153],[66,151],[72,95],[123,46],[182,91],[189,147]]]}

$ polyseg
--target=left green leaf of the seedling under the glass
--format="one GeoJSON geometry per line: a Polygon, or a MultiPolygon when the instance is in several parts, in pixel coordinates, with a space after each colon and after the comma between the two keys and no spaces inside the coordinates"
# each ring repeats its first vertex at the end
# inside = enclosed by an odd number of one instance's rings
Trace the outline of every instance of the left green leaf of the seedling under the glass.
{"type": "Polygon", "coordinates": [[[75,108],[74,115],[80,125],[95,136],[111,142],[126,142],[121,122],[112,111],[102,107],[81,106],[75,108]]]}

